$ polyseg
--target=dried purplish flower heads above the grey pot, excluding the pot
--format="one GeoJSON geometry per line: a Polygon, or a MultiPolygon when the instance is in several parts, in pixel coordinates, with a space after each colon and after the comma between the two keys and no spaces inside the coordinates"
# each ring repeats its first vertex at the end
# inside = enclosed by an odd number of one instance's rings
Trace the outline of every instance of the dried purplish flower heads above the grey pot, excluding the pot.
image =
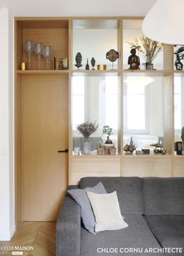
{"type": "Polygon", "coordinates": [[[76,129],[80,131],[85,141],[88,141],[90,135],[97,130],[97,127],[98,125],[96,125],[96,123],[91,123],[87,121],[87,122],[78,124],[76,126],[76,129]]]}

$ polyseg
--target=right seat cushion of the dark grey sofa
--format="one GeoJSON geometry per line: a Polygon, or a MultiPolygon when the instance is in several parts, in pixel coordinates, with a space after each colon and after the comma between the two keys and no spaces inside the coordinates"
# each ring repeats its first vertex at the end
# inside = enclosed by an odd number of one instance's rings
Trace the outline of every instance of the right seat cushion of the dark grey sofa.
{"type": "Polygon", "coordinates": [[[150,215],[145,219],[162,247],[183,247],[184,250],[183,215],[150,215]]]}

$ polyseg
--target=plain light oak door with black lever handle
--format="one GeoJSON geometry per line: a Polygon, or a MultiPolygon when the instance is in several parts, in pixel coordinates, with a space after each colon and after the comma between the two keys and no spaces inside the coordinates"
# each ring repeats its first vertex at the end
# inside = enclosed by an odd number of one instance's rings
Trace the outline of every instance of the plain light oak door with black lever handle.
{"type": "Polygon", "coordinates": [[[58,217],[68,180],[69,79],[24,76],[23,221],[58,217]]]}

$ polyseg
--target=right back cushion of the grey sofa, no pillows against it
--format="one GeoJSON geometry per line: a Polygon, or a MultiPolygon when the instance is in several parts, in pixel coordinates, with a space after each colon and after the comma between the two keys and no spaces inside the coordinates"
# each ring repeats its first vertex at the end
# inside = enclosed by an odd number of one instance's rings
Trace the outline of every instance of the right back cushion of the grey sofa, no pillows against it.
{"type": "Polygon", "coordinates": [[[184,178],[143,178],[145,215],[184,215],[184,178]]]}

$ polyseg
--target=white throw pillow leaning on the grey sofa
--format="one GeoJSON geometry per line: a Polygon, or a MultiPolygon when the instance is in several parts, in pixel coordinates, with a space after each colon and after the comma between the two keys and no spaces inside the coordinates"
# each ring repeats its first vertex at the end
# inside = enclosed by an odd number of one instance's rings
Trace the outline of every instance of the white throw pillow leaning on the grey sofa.
{"type": "Polygon", "coordinates": [[[122,218],[116,191],[110,194],[87,192],[96,219],[95,231],[124,229],[129,226],[122,218]]]}

